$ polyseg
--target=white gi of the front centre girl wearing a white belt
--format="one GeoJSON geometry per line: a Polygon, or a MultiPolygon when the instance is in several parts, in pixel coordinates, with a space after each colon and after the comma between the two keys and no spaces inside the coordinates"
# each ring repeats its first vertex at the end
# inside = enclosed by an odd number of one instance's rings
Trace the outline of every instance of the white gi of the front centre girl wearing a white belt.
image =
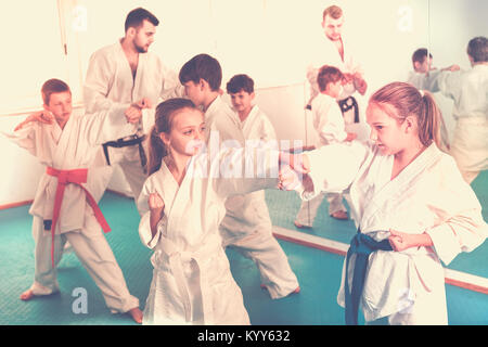
{"type": "MultiPolygon", "coordinates": [[[[278,153],[268,152],[266,156],[267,171],[278,170],[278,153]]],[[[249,324],[218,227],[226,215],[228,196],[275,187],[278,180],[269,174],[268,178],[255,179],[213,174],[222,163],[243,168],[243,150],[223,150],[207,158],[206,154],[192,157],[180,185],[163,160],[162,168],[142,189],[139,205],[143,209],[149,208],[151,193],[157,192],[165,203],[153,239],[150,211],[139,227],[142,243],[154,248],[144,324],[249,324]]]]}

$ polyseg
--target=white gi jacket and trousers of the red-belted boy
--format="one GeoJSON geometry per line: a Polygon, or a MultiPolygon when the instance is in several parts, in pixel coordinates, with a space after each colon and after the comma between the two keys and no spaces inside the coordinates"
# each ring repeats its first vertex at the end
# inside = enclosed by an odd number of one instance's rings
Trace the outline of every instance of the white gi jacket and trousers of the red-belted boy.
{"type": "MultiPolygon", "coordinates": [[[[91,115],[72,115],[64,129],[55,121],[51,125],[30,123],[10,138],[48,167],[59,170],[88,168],[87,183],[82,185],[98,202],[111,171],[106,166],[93,166],[93,160],[100,153],[97,144],[110,141],[120,133],[128,136],[136,132],[137,128],[126,121],[125,110],[124,106],[112,106],[91,115]]],[[[49,295],[59,291],[56,268],[51,265],[51,231],[44,231],[43,228],[43,220],[53,218],[56,187],[57,178],[43,174],[29,209],[34,216],[33,234],[36,240],[36,270],[31,286],[35,295],[49,295]]],[[[130,295],[127,288],[123,272],[87,202],[85,191],[77,184],[66,185],[55,227],[55,266],[68,241],[113,312],[126,312],[139,307],[138,298],[130,295]]]]}

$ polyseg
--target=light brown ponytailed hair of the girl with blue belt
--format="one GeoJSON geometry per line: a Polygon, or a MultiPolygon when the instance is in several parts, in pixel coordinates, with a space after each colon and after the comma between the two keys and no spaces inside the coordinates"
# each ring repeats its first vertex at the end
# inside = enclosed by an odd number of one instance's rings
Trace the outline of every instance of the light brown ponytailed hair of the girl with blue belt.
{"type": "Polygon", "coordinates": [[[391,82],[377,90],[370,98],[370,103],[380,107],[390,105],[396,114],[391,114],[387,107],[382,108],[400,123],[408,116],[414,115],[421,143],[427,146],[434,141],[440,150],[448,150],[449,145],[441,137],[441,132],[446,129],[442,114],[431,92],[425,90],[421,92],[406,82],[391,82]]]}

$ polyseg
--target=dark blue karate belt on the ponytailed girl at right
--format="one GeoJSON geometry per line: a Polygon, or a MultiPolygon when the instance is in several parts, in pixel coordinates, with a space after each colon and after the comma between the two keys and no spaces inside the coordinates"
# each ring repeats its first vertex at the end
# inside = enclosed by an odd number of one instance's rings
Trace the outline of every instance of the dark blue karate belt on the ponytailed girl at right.
{"type": "Polygon", "coordinates": [[[373,237],[368,236],[358,230],[358,233],[350,241],[350,246],[347,250],[346,257],[346,279],[344,281],[347,325],[358,325],[359,301],[364,287],[364,277],[368,268],[369,256],[378,249],[393,250],[388,239],[377,242],[373,237]],[[350,256],[354,254],[356,254],[356,262],[352,274],[352,286],[349,291],[349,260],[350,256]]]}

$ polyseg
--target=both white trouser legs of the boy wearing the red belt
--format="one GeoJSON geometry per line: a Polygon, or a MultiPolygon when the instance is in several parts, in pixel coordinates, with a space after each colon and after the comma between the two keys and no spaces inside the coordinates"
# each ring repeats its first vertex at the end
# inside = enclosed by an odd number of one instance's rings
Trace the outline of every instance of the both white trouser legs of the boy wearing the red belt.
{"type": "Polygon", "coordinates": [[[139,299],[130,295],[124,274],[103,235],[102,229],[90,213],[82,229],[54,236],[54,265],[51,264],[51,232],[44,231],[42,218],[34,216],[33,234],[36,241],[35,280],[30,287],[35,295],[50,295],[59,292],[57,264],[63,247],[69,241],[75,254],[102,291],[106,306],[113,313],[127,312],[139,307],[139,299]]]}

